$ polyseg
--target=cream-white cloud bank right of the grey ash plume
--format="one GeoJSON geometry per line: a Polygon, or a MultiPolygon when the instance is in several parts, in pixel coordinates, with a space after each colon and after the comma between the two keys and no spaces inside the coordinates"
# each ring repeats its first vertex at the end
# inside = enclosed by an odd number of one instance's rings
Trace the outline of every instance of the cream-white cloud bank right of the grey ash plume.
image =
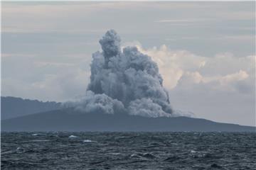
{"type": "Polygon", "coordinates": [[[137,42],[134,45],[158,64],[167,89],[174,89],[176,86],[187,88],[201,83],[212,89],[228,91],[234,90],[238,81],[255,79],[254,55],[234,57],[230,53],[224,53],[202,57],[188,51],[172,51],[166,45],[149,49],[144,49],[137,42]]]}

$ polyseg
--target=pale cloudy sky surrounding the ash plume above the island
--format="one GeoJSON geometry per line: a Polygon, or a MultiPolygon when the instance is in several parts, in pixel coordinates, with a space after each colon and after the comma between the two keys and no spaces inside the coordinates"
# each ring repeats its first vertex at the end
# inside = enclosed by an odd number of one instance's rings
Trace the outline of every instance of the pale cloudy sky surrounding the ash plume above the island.
{"type": "Polygon", "coordinates": [[[173,108],[255,125],[255,1],[2,2],[1,96],[83,96],[110,29],[159,65],[173,108]]]}

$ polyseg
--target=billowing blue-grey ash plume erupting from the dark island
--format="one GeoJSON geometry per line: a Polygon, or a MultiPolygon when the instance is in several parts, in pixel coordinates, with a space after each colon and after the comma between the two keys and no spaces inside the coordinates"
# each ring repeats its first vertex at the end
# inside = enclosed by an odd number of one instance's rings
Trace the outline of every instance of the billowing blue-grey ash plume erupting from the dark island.
{"type": "Polygon", "coordinates": [[[137,47],[121,50],[120,42],[114,30],[102,37],[103,52],[92,55],[87,94],[69,104],[85,113],[171,116],[169,95],[156,63],[137,47]]]}

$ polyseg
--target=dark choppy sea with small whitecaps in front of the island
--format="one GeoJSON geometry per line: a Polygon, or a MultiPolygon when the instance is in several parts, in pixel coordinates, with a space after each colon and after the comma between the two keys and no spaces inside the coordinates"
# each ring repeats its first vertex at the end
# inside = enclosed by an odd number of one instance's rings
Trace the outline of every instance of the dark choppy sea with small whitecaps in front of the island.
{"type": "Polygon", "coordinates": [[[256,133],[1,132],[1,169],[256,169],[256,133]]]}

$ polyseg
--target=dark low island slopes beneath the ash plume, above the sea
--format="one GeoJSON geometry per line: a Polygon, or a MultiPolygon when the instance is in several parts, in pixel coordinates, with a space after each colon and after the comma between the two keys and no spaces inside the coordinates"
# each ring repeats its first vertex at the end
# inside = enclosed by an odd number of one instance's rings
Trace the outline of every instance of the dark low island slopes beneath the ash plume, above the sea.
{"type": "MultiPolygon", "coordinates": [[[[139,115],[81,113],[73,108],[65,108],[42,113],[23,115],[22,103],[31,104],[33,110],[39,111],[45,102],[23,100],[22,98],[1,98],[1,116],[11,113],[11,107],[20,109],[16,118],[1,120],[1,131],[112,131],[112,132],[255,132],[255,127],[235,125],[229,123],[216,123],[201,118],[146,118],[139,115]],[[4,105],[3,105],[4,103],[4,105]]],[[[55,103],[55,102],[53,102],[55,103]]],[[[55,107],[59,107],[55,103],[55,107]]],[[[45,105],[47,108],[48,105],[45,105]]],[[[52,106],[51,106],[52,107],[52,106]]],[[[53,107],[54,108],[54,107],[53,107]]],[[[50,108],[48,108],[50,109],[50,108]]],[[[15,112],[17,113],[17,111],[15,112]]],[[[28,113],[31,113],[28,111],[28,113]]]]}

